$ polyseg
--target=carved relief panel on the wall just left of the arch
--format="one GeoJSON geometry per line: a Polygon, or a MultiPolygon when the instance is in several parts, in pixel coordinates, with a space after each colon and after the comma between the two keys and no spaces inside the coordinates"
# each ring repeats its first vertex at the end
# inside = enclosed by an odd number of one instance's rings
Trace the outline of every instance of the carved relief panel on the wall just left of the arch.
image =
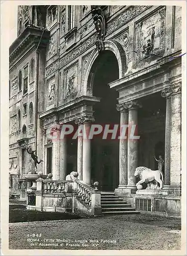
{"type": "Polygon", "coordinates": [[[78,63],[64,71],[64,92],[66,98],[77,92],[78,63]]]}

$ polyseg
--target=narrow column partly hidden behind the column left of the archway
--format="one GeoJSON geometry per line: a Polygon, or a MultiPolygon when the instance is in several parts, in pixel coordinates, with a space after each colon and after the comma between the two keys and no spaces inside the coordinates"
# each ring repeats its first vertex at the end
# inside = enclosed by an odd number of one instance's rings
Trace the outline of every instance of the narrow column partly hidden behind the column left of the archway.
{"type": "MultiPolygon", "coordinates": [[[[79,119],[75,120],[75,124],[78,124],[78,131],[81,132],[82,124],[79,119]]],[[[77,137],[77,173],[78,179],[83,180],[83,136],[77,137]]]]}

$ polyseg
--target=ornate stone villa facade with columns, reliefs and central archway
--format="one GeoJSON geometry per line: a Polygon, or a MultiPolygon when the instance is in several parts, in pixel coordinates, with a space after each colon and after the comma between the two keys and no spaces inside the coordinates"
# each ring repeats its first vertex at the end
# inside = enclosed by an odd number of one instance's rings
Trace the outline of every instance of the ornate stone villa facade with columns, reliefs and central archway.
{"type": "Polygon", "coordinates": [[[10,47],[11,193],[34,168],[31,145],[44,161],[38,171],[55,180],[74,170],[141,210],[180,215],[180,54],[180,6],[20,6],[10,47]],[[140,139],[52,140],[49,127],[67,123],[136,124],[140,139]],[[157,169],[159,155],[163,189],[137,193],[136,167],[157,169]]]}

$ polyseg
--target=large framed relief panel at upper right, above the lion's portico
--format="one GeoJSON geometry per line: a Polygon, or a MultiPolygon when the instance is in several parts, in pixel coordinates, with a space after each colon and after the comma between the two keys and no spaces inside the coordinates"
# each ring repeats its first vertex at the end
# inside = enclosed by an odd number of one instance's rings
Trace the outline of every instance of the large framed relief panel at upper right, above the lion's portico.
{"type": "Polygon", "coordinates": [[[135,61],[139,62],[165,50],[165,7],[137,23],[135,61]]]}

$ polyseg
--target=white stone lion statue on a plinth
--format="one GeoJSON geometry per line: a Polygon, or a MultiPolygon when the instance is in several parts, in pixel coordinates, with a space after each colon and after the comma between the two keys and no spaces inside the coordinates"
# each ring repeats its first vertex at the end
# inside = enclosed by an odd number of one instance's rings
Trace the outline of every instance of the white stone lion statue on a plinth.
{"type": "Polygon", "coordinates": [[[148,183],[155,180],[159,183],[159,189],[163,188],[163,174],[160,170],[151,170],[145,166],[139,166],[135,169],[135,176],[140,177],[140,181],[136,186],[144,182],[148,183]]]}

